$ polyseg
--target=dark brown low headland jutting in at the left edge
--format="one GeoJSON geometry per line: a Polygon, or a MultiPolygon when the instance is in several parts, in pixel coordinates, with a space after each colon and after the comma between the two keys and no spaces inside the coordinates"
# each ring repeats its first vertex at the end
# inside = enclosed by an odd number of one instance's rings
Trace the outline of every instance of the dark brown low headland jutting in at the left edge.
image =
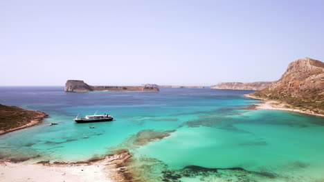
{"type": "Polygon", "coordinates": [[[44,112],[0,104],[0,134],[27,128],[48,117],[44,112]]]}

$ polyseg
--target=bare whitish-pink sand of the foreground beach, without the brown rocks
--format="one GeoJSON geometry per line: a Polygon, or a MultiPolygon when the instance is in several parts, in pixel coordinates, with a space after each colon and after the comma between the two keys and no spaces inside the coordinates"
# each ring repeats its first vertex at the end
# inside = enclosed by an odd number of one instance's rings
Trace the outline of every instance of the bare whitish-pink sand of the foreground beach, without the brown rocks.
{"type": "Polygon", "coordinates": [[[109,170],[105,170],[106,167],[105,165],[46,166],[4,162],[0,165],[0,181],[112,181],[108,176],[109,170]]]}

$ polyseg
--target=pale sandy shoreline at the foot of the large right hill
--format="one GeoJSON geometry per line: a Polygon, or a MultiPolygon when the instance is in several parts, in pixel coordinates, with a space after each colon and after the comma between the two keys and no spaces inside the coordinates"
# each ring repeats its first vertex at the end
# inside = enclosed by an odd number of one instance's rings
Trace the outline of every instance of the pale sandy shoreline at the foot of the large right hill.
{"type": "Polygon", "coordinates": [[[287,104],[287,103],[279,103],[278,101],[273,101],[271,99],[265,99],[261,97],[255,97],[251,96],[249,94],[244,94],[244,97],[250,98],[250,99],[255,99],[255,100],[260,100],[262,103],[256,103],[254,104],[251,108],[249,109],[255,109],[255,110],[285,110],[285,111],[290,111],[290,112],[298,112],[300,114],[308,114],[312,115],[315,117],[324,117],[324,114],[316,114],[310,110],[299,110],[297,108],[294,108],[293,106],[287,104]],[[287,106],[289,108],[287,108],[287,106]]]}

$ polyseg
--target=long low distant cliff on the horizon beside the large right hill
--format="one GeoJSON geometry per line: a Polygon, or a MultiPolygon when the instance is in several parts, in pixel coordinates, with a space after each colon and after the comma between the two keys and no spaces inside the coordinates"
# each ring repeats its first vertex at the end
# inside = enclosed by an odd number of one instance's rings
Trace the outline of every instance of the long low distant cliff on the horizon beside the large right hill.
{"type": "Polygon", "coordinates": [[[210,89],[229,89],[229,90],[262,90],[267,88],[272,81],[257,81],[253,83],[223,82],[211,85],[210,89]]]}

